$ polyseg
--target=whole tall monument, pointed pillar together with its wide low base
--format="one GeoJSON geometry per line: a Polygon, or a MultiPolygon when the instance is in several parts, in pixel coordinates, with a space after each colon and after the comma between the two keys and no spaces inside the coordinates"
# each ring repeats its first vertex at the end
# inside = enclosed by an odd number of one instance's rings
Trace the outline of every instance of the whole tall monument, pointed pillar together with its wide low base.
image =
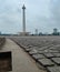
{"type": "Polygon", "coordinates": [[[20,35],[28,35],[29,32],[26,31],[26,7],[23,4],[22,7],[22,32],[20,32],[20,35]]]}

